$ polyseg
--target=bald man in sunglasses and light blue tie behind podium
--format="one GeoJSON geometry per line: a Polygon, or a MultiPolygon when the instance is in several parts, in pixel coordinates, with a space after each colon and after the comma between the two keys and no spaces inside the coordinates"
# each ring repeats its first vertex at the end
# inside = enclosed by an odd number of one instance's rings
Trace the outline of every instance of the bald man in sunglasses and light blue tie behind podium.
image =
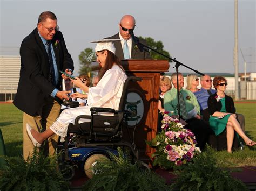
{"type": "MultiPolygon", "coordinates": [[[[125,15],[120,20],[119,33],[106,39],[121,39],[121,41],[114,41],[116,47],[116,55],[119,59],[151,59],[150,53],[145,50],[140,50],[139,47],[133,42],[130,31],[135,28],[135,19],[131,15],[125,15]]],[[[146,41],[139,39],[140,43],[146,45],[146,41]]]]}

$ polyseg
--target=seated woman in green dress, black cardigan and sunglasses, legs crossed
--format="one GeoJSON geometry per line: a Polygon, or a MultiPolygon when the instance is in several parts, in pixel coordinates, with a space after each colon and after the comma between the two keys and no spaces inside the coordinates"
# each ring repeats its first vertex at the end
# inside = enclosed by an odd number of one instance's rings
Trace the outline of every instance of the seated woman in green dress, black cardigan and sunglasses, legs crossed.
{"type": "Polygon", "coordinates": [[[232,152],[234,133],[244,139],[247,146],[256,145],[256,142],[248,138],[242,131],[237,115],[235,114],[234,101],[225,94],[227,80],[222,76],[216,76],[213,79],[213,86],[217,93],[208,98],[208,110],[210,112],[210,127],[219,135],[227,131],[227,152],[232,152]]]}

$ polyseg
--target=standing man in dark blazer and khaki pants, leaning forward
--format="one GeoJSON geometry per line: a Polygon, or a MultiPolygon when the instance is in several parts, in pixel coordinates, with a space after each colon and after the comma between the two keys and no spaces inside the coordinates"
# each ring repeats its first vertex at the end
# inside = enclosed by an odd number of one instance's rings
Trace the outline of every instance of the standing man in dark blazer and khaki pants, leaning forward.
{"type": "MultiPolygon", "coordinates": [[[[21,71],[14,105],[23,111],[24,159],[34,147],[26,132],[26,124],[37,131],[48,129],[59,116],[59,103],[63,98],[69,98],[67,93],[70,91],[61,91],[59,70],[71,74],[73,60],[58,29],[55,14],[42,12],[37,28],[21,44],[21,71]]],[[[44,147],[45,154],[52,155],[57,142],[58,136],[49,138],[49,144],[44,147]]]]}

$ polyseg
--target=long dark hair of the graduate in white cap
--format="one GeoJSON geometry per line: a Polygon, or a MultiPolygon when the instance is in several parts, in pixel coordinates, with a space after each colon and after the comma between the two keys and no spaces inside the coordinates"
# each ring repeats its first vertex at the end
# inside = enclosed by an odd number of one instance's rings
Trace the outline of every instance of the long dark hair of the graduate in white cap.
{"type": "Polygon", "coordinates": [[[106,64],[104,68],[99,69],[99,80],[102,79],[103,75],[106,73],[106,70],[113,67],[114,63],[124,71],[124,68],[121,65],[121,60],[114,53],[108,50],[98,51],[98,53],[103,54],[104,51],[107,51],[106,64]]]}

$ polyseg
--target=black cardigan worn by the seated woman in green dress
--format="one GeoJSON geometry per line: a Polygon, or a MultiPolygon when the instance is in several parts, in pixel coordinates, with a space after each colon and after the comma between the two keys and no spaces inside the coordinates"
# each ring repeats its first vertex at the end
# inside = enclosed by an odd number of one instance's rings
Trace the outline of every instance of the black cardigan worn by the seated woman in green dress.
{"type": "MultiPolygon", "coordinates": [[[[217,94],[213,94],[208,98],[208,111],[210,115],[214,114],[215,111],[220,111],[222,104],[220,101],[217,102],[216,97],[217,94]]],[[[235,113],[234,101],[232,97],[227,96],[225,94],[225,107],[226,111],[229,113],[235,113]]]]}

